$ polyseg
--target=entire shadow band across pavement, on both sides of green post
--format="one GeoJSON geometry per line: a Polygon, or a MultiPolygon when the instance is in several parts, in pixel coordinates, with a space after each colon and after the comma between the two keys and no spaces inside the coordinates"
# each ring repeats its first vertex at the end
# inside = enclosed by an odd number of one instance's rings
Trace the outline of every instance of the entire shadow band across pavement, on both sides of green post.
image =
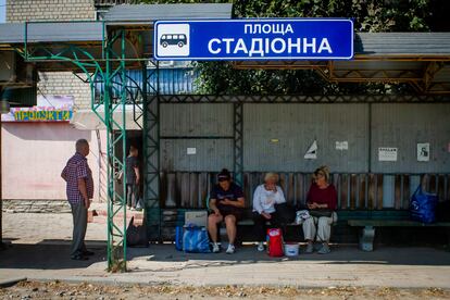
{"type": "MultiPolygon", "coordinates": [[[[88,261],[70,259],[70,242],[66,240],[42,240],[36,245],[9,243],[0,251],[1,268],[39,268],[64,270],[87,268],[107,260],[107,243],[87,241],[88,249],[96,254],[88,261]]],[[[176,251],[174,245],[150,245],[148,248],[128,248],[127,258],[132,265],[140,271],[153,270],[153,263],[164,263],[170,271],[180,263],[186,267],[229,266],[258,263],[313,263],[313,264],[374,264],[374,265],[450,265],[450,252],[426,247],[379,247],[373,252],[363,252],[355,246],[334,246],[332,253],[301,253],[295,258],[271,258],[265,252],[258,252],[254,246],[237,248],[235,254],[221,253],[184,253],[176,251]],[[172,264],[171,264],[172,263],[172,264]]]]}

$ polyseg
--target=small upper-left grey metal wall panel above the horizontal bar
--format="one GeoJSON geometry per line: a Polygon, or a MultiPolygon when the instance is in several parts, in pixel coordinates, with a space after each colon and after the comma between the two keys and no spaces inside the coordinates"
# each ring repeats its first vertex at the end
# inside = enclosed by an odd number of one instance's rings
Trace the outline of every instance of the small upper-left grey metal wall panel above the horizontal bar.
{"type": "Polygon", "coordinates": [[[161,104],[160,115],[163,137],[233,137],[233,104],[161,104]]]}

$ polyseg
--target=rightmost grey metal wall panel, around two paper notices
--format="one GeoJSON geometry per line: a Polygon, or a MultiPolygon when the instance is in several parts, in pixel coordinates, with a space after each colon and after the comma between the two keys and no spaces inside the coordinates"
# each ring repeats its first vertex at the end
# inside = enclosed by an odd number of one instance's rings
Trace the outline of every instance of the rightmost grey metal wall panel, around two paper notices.
{"type": "Polygon", "coordinates": [[[450,172],[450,103],[372,105],[372,172],[450,172]],[[417,161],[416,149],[421,142],[430,143],[428,162],[417,161]],[[397,161],[379,161],[379,147],[398,148],[397,161]]]}

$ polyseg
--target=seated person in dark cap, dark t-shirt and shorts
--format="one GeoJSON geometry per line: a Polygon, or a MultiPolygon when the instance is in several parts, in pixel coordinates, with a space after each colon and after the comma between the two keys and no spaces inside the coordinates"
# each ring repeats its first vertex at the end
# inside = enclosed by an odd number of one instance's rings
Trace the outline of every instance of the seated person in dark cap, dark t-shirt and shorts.
{"type": "Polygon", "coordinates": [[[212,239],[212,251],[221,251],[217,243],[217,224],[225,221],[226,234],[228,236],[227,254],[235,252],[235,240],[237,234],[237,222],[242,217],[245,207],[242,189],[232,182],[228,170],[223,168],[217,175],[218,184],[213,187],[210,195],[210,210],[208,216],[208,232],[212,239]]]}

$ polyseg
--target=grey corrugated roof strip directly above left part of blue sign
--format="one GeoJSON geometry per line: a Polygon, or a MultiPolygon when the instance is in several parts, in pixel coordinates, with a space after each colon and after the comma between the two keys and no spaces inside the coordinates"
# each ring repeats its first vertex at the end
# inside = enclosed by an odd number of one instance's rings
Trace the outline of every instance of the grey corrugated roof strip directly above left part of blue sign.
{"type": "Polygon", "coordinates": [[[104,20],[151,22],[180,18],[230,18],[232,11],[232,3],[123,4],[111,8],[104,14],[104,20]]]}

